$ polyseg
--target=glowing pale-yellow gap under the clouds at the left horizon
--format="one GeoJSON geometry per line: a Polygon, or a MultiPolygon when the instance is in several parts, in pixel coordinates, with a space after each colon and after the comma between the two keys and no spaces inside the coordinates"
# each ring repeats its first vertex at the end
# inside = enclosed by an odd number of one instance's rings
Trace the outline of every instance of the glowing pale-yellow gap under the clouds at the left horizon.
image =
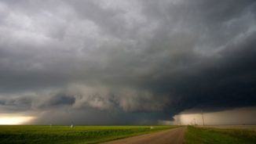
{"type": "Polygon", "coordinates": [[[34,120],[35,117],[24,117],[24,116],[19,116],[19,117],[1,117],[0,116],[0,124],[2,125],[13,125],[13,124],[26,124],[29,121],[34,120]]]}

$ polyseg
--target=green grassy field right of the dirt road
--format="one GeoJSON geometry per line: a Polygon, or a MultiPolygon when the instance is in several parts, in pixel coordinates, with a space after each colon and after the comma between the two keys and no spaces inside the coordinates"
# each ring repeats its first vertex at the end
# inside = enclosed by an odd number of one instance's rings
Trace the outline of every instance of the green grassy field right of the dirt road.
{"type": "Polygon", "coordinates": [[[255,144],[256,131],[248,129],[196,128],[188,126],[185,144],[255,144]]]}

